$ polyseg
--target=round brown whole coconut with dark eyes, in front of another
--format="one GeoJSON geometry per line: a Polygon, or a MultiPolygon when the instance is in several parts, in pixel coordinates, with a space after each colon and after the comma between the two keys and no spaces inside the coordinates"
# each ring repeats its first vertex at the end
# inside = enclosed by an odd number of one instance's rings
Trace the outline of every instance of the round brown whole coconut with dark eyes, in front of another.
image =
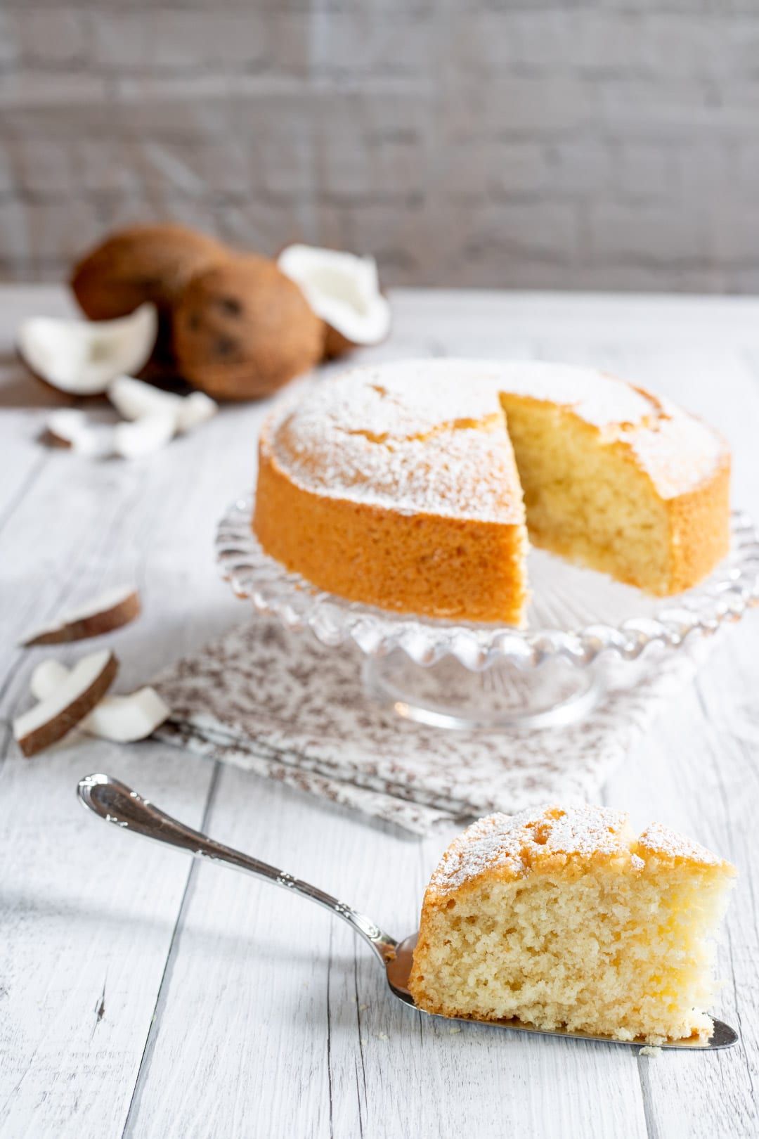
{"type": "Polygon", "coordinates": [[[181,374],[216,400],[254,400],[314,367],[324,322],[275,262],[230,257],[197,273],[174,310],[181,374]]]}

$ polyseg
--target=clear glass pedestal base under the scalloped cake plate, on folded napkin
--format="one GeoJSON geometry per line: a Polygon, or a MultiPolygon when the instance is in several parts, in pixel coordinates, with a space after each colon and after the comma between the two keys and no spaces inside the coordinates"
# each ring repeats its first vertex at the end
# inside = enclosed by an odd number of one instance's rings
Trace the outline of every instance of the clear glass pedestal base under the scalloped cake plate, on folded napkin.
{"type": "Polygon", "coordinates": [[[596,669],[576,669],[559,657],[527,671],[501,662],[471,672],[454,657],[423,667],[395,652],[366,658],[363,680],[370,699],[403,719],[464,731],[574,723],[603,691],[596,669]]]}

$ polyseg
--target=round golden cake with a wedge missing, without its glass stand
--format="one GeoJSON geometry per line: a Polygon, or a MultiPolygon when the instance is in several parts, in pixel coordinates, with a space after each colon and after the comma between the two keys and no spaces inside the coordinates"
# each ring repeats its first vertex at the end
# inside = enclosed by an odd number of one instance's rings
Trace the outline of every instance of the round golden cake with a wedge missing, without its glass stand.
{"type": "Polygon", "coordinates": [[[693,585],[728,550],[729,468],[711,427],[589,368],[399,360],[273,412],[253,528],[350,600],[520,624],[528,531],[652,593],[693,585]]]}

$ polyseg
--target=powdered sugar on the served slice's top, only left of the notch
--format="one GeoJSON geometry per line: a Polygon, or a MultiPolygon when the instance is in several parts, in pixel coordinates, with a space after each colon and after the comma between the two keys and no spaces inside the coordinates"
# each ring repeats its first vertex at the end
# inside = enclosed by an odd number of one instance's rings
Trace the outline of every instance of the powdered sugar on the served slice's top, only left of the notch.
{"type": "Polygon", "coordinates": [[[445,894],[496,868],[521,877],[546,854],[580,860],[624,854],[634,837],[627,814],[605,806],[543,806],[518,814],[488,814],[452,843],[430,886],[445,894]]]}

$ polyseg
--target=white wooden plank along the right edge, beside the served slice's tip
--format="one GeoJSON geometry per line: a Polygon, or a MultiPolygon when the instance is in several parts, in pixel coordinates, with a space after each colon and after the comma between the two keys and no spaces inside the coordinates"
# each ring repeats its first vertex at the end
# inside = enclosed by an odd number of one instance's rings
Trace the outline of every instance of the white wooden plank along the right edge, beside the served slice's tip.
{"type": "MultiPolygon", "coordinates": [[[[756,661],[759,634],[751,630],[750,638],[756,661]]],[[[653,1063],[641,1057],[646,1109],[653,1133],[661,1136],[707,1136],[724,1129],[731,1136],[748,1137],[754,1136],[759,1125],[759,939],[754,909],[759,748],[756,743],[751,746],[732,738],[721,724],[712,724],[708,704],[700,698],[719,685],[725,699],[734,699],[746,673],[753,674],[756,690],[756,664],[746,670],[736,667],[733,659],[733,648],[725,640],[695,688],[683,694],[660,720],[655,732],[611,780],[604,796],[611,805],[630,810],[637,826],[654,819],[674,826],[732,859],[740,870],[719,952],[725,986],[715,1011],[739,1029],[742,1041],[724,1054],[665,1054],[653,1063]]]]}

